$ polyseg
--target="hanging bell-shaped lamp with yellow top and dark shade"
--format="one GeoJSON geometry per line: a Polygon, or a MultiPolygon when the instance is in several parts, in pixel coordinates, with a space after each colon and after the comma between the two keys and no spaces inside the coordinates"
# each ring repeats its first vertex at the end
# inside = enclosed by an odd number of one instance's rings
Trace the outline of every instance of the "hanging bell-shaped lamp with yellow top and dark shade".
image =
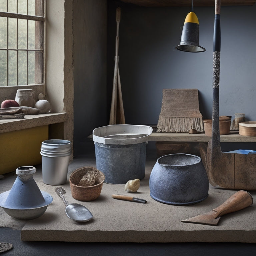
{"type": "Polygon", "coordinates": [[[204,52],[205,48],[199,45],[199,21],[192,11],[187,15],[181,34],[180,44],[175,49],[184,52],[204,52]]]}

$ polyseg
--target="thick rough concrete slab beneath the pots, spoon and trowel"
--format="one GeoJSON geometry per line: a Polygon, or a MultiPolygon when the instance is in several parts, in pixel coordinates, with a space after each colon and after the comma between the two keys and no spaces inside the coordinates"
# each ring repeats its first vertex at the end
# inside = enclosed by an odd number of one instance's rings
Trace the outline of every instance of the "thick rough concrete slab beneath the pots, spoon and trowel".
{"type": "MultiPolygon", "coordinates": [[[[183,223],[181,220],[210,211],[222,204],[236,190],[210,186],[209,197],[189,206],[162,204],[149,195],[150,172],[157,157],[147,157],[146,176],[136,193],[127,193],[124,185],[104,183],[98,199],[81,202],[72,198],[69,183],[62,185],[69,203],[81,203],[93,214],[89,222],[74,222],[66,216],[65,206],[55,193],[56,186],[42,182],[41,166],[37,166],[34,179],[39,188],[53,197],[46,212],[29,221],[16,220],[0,209],[0,226],[21,229],[23,241],[66,242],[256,242],[255,205],[221,217],[218,226],[183,223]],[[112,194],[123,194],[147,200],[146,204],[116,200],[112,194]]],[[[96,167],[93,157],[75,159],[69,165],[69,175],[82,166],[96,167]]],[[[0,192],[10,190],[16,175],[0,180],[0,192]]],[[[256,191],[250,192],[256,198],[256,191]]]]}

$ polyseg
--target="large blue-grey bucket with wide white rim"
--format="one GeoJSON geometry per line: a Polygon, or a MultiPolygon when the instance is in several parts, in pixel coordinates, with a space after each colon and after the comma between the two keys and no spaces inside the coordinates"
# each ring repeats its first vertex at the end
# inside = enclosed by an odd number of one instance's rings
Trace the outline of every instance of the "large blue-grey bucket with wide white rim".
{"type": "Polygon", "coordinates": [[[105,182],[126,184],[145,177],[146,144],[152,127],[146,125],[108,125],[93,130],[96,167],[105,182]]]}

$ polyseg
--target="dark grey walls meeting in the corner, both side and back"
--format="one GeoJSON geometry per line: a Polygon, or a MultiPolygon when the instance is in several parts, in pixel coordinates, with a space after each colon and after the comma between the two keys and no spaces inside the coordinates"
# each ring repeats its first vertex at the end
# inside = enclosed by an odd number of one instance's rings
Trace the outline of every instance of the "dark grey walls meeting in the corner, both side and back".
{"type": "MultiPolygon", "coordinates": [[[[74,0],[75,156],[88,146],[93,128],[108,125],[118,6],[126,123],[157,124],[163,88],[197,88],[203,118],[212,116],[214,7],[194,7],[206,52],[187,53],[175,46],[189,7],[146,8],[108,1],[107,8],[104,0],[74,0]]],[[[256,120],[255,24],[256,5],[221,7],[220,115],[245,113],[247,120],[256,120]]]]}

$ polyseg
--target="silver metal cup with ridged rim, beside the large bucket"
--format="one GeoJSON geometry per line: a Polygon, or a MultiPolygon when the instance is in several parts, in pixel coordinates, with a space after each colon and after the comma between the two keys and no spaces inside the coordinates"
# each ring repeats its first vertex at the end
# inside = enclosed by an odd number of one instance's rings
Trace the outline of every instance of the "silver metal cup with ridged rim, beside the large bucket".
{"type": "Polygon", "coordinates": [[[62,185],[67,181],[69,156],[72,153],[69,140],[45,140],[41,146],[43,182],[62,185]]]}

